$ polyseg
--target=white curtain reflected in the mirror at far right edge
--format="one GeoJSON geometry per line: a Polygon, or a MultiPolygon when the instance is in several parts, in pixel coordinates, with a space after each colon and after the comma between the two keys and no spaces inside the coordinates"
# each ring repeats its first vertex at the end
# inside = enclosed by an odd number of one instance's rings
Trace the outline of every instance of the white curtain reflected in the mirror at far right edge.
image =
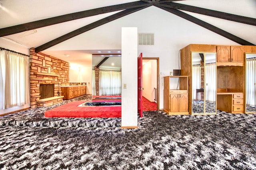
{"type": "Polygon", "coordinates": [[[256,107],[256,59],[246,59],[246,105],[256,107]]]}

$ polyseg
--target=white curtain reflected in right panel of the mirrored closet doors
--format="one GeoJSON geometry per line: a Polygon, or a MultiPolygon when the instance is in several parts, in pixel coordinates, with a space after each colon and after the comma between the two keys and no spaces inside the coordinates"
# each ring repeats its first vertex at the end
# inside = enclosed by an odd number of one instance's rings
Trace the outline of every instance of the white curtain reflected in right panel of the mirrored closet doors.
{"type": "Polygon", "coordinates": [[[216,63],[205,64],[204,68],[205,100],[216,101],[216,63]]]}

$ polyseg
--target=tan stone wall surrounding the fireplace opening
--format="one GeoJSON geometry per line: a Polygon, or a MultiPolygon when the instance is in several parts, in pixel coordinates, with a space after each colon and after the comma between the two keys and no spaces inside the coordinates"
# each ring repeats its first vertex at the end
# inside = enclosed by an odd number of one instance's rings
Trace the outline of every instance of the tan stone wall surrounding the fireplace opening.
{"type": "Polygon", "coordinates": [[[30,49],[30,106],[37,107],[40,98],[40,84],[54,84],[54,96],[60,88],[69,83],[69,63],[30,49]]]}

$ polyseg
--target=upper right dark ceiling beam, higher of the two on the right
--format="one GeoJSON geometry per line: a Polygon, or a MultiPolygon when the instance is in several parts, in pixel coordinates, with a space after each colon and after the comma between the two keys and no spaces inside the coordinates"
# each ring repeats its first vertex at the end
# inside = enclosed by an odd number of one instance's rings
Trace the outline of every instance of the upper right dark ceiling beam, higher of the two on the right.
{"type": "Polygon", "coordinates": [[[212,17],[215,17],[215,18],[221,18],[221,19],[224,19],[224,20],[230,20],[230,21],[235,21],[235,22],[240,22],[240,23],[245,23],[245,24],[256,26],[256,18],[238,16],[238,15],[234,15],[234,14],[228,14],[226,12],[208,10],[208,9],[205,9],[205,8],[199,8],[199,7],[196,7],[196,6],[178,4],[178,3],[174,3],[174,2],[161,4],[161,6],[164,6],[164,7],[167,7],[167,8],[173,8],[173,9],[176,9],[176,10],[184,10],[184,11],[188,11],[188,12],[203,14],[203,15],[206,15],[206,16],[212,16],[212,17]]]}

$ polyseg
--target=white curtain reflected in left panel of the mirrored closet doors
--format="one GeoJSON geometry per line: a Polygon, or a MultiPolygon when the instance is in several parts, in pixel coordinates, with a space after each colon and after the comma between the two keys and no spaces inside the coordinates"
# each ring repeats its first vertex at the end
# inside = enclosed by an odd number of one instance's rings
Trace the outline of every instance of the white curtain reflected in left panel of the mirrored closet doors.
{"type": "MultiPolygon", "coordinates": [[[[201,84],[201,66],[193,65],[192,66],[192,100],[196,100],[196,89],[200,89],[201,84]]],[[[200,95],[198,95],[201,99],[200,95]]]]}

